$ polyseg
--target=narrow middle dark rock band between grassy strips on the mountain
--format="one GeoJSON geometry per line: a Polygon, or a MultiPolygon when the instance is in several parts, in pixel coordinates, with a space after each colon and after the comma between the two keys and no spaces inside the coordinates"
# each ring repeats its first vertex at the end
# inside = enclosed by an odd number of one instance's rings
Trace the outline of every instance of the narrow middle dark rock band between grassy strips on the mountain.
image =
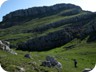
{"type": "Polygon", "coordinates": [[[29,31],[29,32],[43,32],[43,31],[46,31],[50,28],[57,28],[57,27],[63,26],[64,24],[70,24],[70,23],[73,24],[72,27],[74,27],[74,29],[78,30],[78,28],[85,25],[85,23],[89,22],[89,20],[92,20],[91,18],[94,18],[93,13],[88,12],[87,14],[83,14],[81,16],[74,16],[71,18],[67,18],[66,20],[64,19],[64,20],[60,20],[57,22],[43,25],[43,26],[39,26],[39,27],[36,27],[35,29],[29,31]],[[77,22],[78,22],[78,25],[74,25],[77,22]]]}

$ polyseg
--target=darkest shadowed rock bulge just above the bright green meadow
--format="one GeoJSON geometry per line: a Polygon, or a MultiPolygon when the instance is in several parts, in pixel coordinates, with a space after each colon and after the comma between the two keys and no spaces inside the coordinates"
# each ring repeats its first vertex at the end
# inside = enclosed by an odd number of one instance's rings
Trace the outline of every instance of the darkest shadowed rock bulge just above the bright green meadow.
{"type": "Polygon", "coordinates": [[[64,30],[60,30],[54,33],[50,33],[47,36],[41,36],[28,40],[26,43],[19,45],[19,49],[29,49],[29,51],[42,51],[49,50],[58,46],[61,46],[73,39],[71,33],[67,33],[64,30]],[[25,46],[24,46],[25,45],[25,46]]]}

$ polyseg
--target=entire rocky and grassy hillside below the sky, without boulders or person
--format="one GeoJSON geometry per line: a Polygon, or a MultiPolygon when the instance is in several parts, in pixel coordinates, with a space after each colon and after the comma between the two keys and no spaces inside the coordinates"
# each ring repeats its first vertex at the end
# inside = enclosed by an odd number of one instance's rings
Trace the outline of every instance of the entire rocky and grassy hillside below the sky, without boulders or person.
{"type": "Polygon", "coordinates": [[[58,72],[40,66],[46,56],[56,58],[62,72],[82,72],[96,64],[96,13],[73,4],[17,10],[0,22],[0,40],[9,41],[17,53],[0,50],[0,63],[9,72],[21,72],[20,67],[25,72],[58,72]]]}

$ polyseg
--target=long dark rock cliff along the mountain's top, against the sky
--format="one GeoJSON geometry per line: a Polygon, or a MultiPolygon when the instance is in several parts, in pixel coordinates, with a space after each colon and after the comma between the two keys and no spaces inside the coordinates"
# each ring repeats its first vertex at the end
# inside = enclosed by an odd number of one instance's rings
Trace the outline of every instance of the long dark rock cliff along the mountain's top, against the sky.
{"type": "Polygon", "coordinates": [[[66,9],[74,10],[61,15],[76,14],[82,11],[82,9],[79,6],[75,6],[72,4],[56,4],[53,6],[33,7],[25,10],[17,10],[3,17],[2,22],[4,22],[5,24],[1,24],[0,28],[11,27],[13,25],[17,25],[32,20],[34,18],[41,18],[45,16],[54,15],[66,9]]]}

